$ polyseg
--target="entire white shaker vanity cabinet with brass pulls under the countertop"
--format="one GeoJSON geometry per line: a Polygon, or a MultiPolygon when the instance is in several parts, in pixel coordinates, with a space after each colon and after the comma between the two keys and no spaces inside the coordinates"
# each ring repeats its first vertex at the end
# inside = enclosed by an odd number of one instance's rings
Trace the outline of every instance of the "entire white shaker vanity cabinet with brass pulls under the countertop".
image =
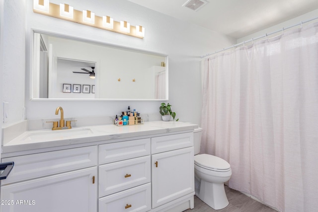
{"type": "Polygon", "coordinates": [[[14,167],[1,181],[0,212],[193,209],[194,126],[164,126],[107,126],[117,133],[5,152],[1,162],[14,161],[14,167]]]}

